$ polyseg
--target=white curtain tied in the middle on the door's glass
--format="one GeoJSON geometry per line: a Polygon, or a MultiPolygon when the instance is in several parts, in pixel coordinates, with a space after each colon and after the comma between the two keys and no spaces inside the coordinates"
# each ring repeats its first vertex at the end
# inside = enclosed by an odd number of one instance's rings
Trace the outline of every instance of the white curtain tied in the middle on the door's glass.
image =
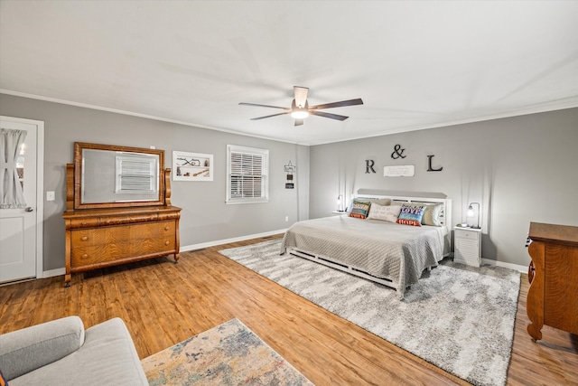
{"type": "Polygon", "coordinates": [[[26,134],[25,130],[0,128],[0,209],[26,207],[16,171],[16,161],[26,134]]]}

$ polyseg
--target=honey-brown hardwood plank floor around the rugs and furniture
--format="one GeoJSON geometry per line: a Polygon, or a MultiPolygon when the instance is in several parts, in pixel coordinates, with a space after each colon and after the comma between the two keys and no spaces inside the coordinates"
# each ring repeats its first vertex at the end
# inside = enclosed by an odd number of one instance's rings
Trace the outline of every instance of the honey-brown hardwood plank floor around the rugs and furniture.
{"type": "MultiPolygon", "coordinates": [[[[316,385],[456,385],[465,381],[294,295],[219,249],[0,287],[0,334],[67,315],[85,326],[125,320],[141,358],[237,317],[316,385]]],[[[271,240],[267,238],[266,240],[271,240]]],[[[578,336],[545,326],[527,334],[522,287],[508,385],[578,385],[578,336]]]]}

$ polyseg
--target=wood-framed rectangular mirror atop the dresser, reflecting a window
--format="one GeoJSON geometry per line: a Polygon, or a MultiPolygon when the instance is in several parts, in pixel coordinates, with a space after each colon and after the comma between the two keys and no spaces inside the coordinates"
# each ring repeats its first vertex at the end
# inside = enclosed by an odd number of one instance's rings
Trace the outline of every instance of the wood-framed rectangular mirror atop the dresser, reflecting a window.
{"type": "Polygon", "coordinates": [[[165,188],[164,150],[74,143],[75,210],[170,204],[165,188]]]}

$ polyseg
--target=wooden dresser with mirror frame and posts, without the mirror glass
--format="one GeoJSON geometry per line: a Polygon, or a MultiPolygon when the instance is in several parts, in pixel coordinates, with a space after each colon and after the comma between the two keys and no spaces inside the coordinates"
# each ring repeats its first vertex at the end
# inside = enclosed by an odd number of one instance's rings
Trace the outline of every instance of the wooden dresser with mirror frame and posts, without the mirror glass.
{"type": "MultiPolygon", "coordinates": [[[[110,147],[79,145],[81,149],[102,147],[107,151],[110,147]]],[[[113,151],[116,152],[117,147],[113,151]]],[[[65,286],[70,286],[72,273],[89,269],[167,255],[173,255],[176,263],[181,208],[171,205],[171,169],[163,169],[163,154],[160,154],[158,173],[155,172],[159,193],[153,200],[84,204],[79,198],[79,168],[84,165],[81,149],[75,147],[75,164],[67,165],[67,210],[62,214],[66,225],[65,286]]],[[[122,148],[125,153],[126,149],[134,151],[134,148],[122,148]]]]}

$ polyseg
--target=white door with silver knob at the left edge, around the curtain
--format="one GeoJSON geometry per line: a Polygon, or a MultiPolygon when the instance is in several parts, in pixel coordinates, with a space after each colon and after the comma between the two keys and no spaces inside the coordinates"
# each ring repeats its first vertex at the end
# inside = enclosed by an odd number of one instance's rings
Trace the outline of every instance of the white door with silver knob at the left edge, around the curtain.
{"type": "MultiPolygon", "coordinates": [[[[22,177],[26,207],[0,208],[0,283],[41,278],[42,157],[39,155],[43,155],[44,123],[31,119],[0,117],[0,128],[27,132],[16,161],[18,174],[22,177]],[[41,178],[38,178],[39,176],[41,178]]],[[[5,159],[5,151],[5,148],[0,148],[0,160],[5,159]]]]}

